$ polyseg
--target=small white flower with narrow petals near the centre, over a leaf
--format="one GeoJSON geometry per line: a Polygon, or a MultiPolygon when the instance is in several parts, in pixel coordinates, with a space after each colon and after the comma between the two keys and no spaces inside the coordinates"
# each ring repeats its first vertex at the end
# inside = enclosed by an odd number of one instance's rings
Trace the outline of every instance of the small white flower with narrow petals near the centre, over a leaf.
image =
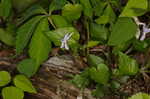
{"type": "Polygon", "coordinates": [[[68,47],[68,40],[70,39],[70,37],[72,36],[73,33],[67,33],[64,38],[61,40],[61,46],[60,48],[65,48],[66,50],[69,50],[69,47],[68,47]]]}

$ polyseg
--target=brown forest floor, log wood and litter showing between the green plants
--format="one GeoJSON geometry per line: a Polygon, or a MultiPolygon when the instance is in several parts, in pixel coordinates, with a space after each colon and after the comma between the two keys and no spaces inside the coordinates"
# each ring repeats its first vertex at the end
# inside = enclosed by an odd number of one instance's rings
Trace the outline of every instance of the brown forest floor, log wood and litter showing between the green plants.
{"type": "MultiPolygon", "coordinates": [[[[0,70],[7,70],[12,75],[18,73],[15,68],[16,64],[20,60],[26,58],[27,56],[25,54],[22,54],[20,56],[13,57],[14,55],[15,51],[13,48],[1,45],[0,70]]],[[[78,88],[69,83],[69,80],[71,78],[69,78],[68,75],[69,74],[75,75],[79,74],[80,72],[80,68],[74,66],[78,65],[82,68],[85,68],[85,66],[81,66],[84,64],[79,65],[77,64],[77,62],[74,62],[74,60],[70,58],[70,55],[64,56],[50,57],[49,60],[52,61],[53,59],[55,60],[55,58],[58,58],[56,59],[57,60],[56,63],[53,61],[54,63],[53,64],[49,63],[48,64],[49,66],[44,66],[45,64],[41,66],[39,72],[34,77],[31,78],[34,86],[38,90],[38,94],[27,94],[25,99],[82,99],[79,98],[80,96],[83,96],[83,99],[95,99],[90,95],[91,88],[88,88],[86,89],[86,91],[81,92],[78,88]],[[66,65],[64,66],[63,69],[57,68],[58,67],[57,64],[59,63],[58,61],[59,62],[66,61],[65,62],[66,65]]],[[[144,64],[144,62],[150,59],[150,50],[148,51],[148,53],[136,53],[134,57],[139,64],[144,64]]],[[[125,95],[130,96],[137,92],[150,93],[149,83],[150,83],[150,74],[141,73],[133,78],[131,77],[127,81],[127,83],[123,84],[120,87],[120,89],[118,89],[118,93],[110,94],[101,99],[126,99],[124,98],[125,95]]]]}

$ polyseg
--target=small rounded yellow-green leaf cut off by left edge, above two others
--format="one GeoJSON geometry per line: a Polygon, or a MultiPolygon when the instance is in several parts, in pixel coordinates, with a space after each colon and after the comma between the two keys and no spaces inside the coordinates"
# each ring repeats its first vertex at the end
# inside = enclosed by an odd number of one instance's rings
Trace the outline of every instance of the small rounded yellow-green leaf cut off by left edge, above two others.
{"type": "Polygon", "coordinates": [[[7,71],[0,71],[0,86],[5,86],[11,81],[11,76],[7,71]]]}

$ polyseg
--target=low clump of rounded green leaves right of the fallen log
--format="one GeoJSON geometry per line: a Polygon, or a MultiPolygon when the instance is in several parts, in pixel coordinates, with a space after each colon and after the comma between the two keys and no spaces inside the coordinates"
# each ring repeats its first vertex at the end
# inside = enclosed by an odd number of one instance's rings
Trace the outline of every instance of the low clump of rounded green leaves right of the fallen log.
{"type": "Polygon", "coordinates": [[[110,69],[106,61],[93,54],[88,56],[88,64],[90,67],[80,75],[76,75],[71,82],[78,88],[84,89],[94,81],[96,89],[93,90],[93,95],[96,97],[117,91],[121,84],[126,83],[129,76],[140,72],[137,62],[122,52],[118,53],[117,69],[110,69]]]}

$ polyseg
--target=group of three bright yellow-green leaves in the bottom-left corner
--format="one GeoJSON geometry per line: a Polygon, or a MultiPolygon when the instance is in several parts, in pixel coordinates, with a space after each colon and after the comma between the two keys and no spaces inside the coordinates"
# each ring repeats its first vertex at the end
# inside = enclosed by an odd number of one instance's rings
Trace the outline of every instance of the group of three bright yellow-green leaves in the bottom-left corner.
{"type": "Polygon", "coordinates": [[[3,99],[23,99],[24,92],[37,93],[30,80],[24,75],[16,75],[11,81],[7,71],[0,71],[0,87],[3,99]]]}

